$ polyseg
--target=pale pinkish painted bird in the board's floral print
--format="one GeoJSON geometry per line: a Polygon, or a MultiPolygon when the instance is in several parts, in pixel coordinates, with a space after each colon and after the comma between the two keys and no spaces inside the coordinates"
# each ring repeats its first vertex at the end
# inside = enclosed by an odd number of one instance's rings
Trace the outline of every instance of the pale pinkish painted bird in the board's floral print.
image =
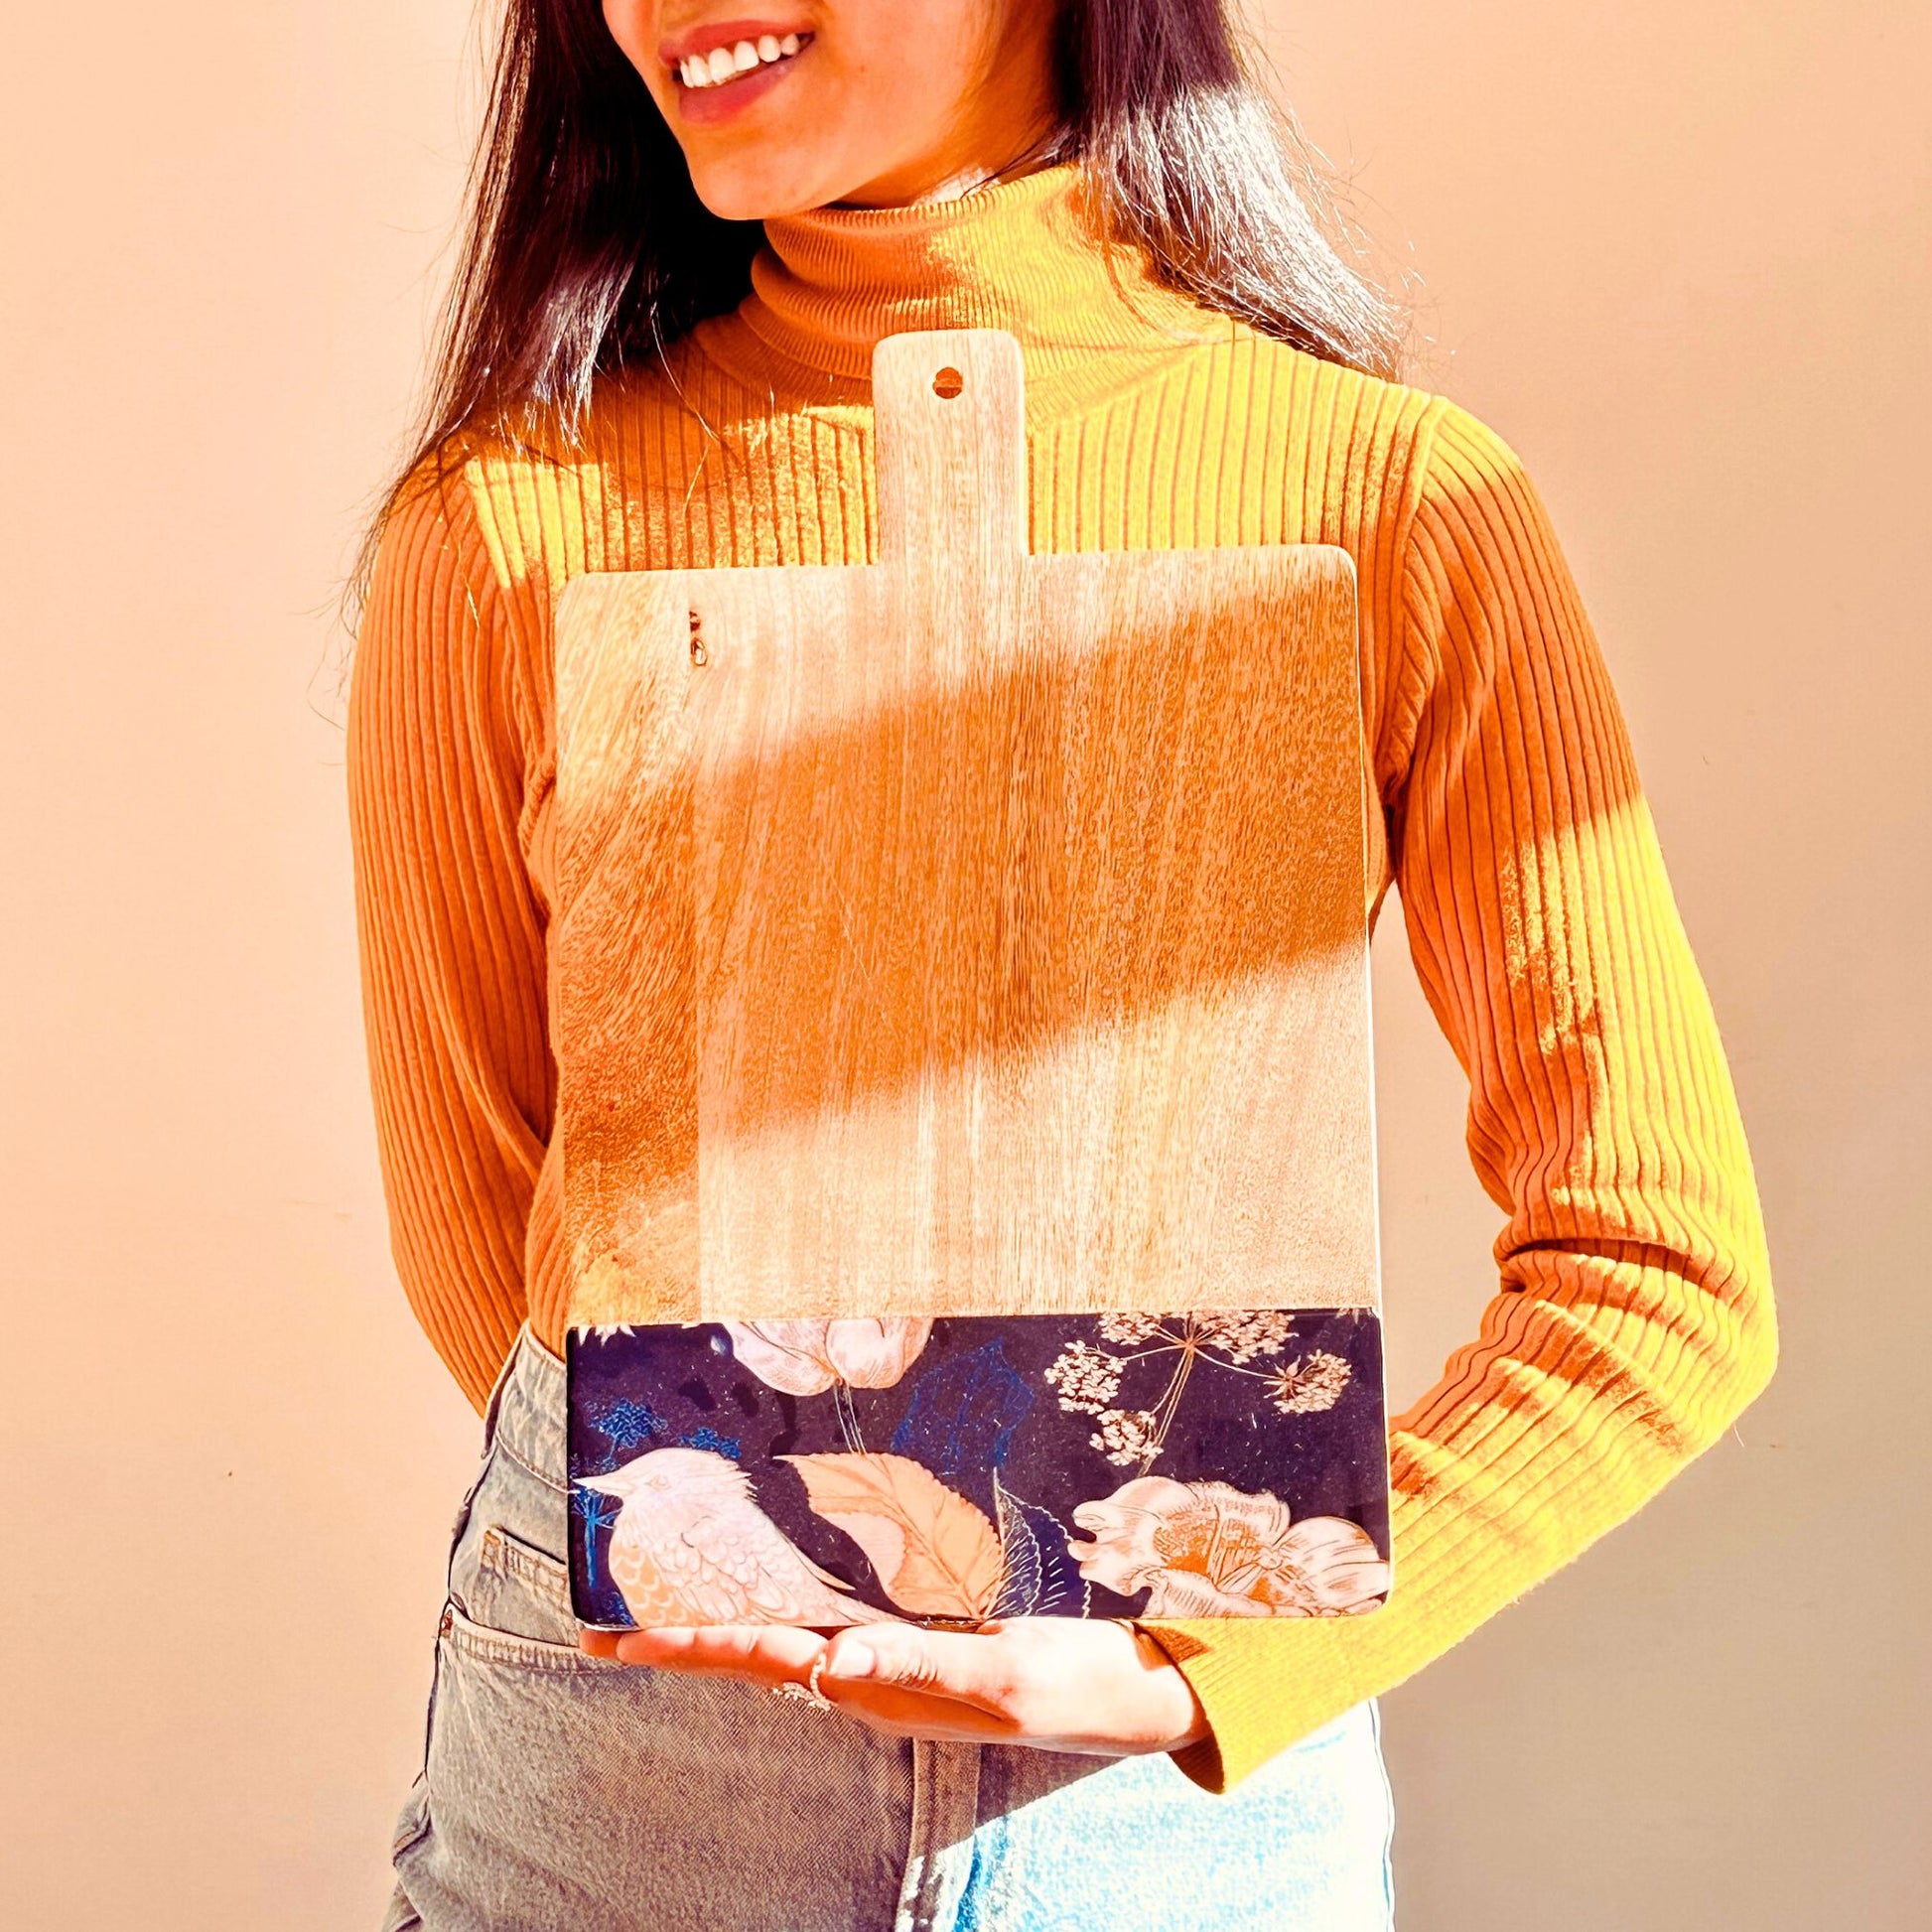
{"type": "Polygon", "coordinates": [[[819,1569],[715,1449],[653,1449],[609,1476],[580,1476],[618,1499],[611,1577],[639,1629],[694,1623],[904,1623],[819,1569]]]}

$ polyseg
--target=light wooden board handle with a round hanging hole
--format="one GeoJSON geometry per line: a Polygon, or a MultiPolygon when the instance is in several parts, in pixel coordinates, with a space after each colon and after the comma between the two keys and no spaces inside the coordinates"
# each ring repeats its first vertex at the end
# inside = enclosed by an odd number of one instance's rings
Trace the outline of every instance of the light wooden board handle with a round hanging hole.
{"type": "Polygon", "coordinates": [[[1005,570],[1026,554],[1026,377],[1005,328],[918,328],[871,352],[879,560],[1005,570]]]}

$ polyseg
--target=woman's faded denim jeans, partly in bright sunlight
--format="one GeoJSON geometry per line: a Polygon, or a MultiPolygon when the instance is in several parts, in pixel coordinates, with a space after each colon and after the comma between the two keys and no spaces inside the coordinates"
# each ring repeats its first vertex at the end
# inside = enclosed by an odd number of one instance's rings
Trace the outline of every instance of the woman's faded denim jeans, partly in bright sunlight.
{"type": "Polygon", "coordinates": [[[1389,1932],[1374,1700],[1202,1791],[1165,1752],[887,1737],[583,1656],[564,1366],[527,1331],[456,1517],[384,1932],[1389,1932]]]}

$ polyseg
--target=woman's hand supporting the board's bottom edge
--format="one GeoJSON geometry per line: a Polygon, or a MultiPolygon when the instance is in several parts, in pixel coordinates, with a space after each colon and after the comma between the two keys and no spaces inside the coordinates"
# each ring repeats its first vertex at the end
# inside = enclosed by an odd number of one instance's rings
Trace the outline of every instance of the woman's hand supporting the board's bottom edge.
{"type": "Polygon", "coordinates": [[[755,1685],[804,1683],[862,1723],[900,1737],[1032,1745],[1117,1758],[1179,1750],[1208,1735],[1192,1685],[1144,1631],[1084,1617],[995,1617],[978,1631],[862,1623],[833,1633],[786,1623],[585,1631],[620,1663],[709,1671],[755,1685]]]}

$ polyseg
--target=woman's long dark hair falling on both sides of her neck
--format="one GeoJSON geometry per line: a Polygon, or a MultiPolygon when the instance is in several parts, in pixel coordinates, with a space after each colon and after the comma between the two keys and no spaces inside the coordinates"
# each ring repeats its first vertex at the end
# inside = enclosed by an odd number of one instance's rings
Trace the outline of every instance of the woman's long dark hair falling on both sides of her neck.
{"type": "MultiPolygon", "coordinates": [[[[1211,309],[1393,377],[1395,303],[1323,234],[1320,176],[1225,0],[1059,0],[1063,128],[1111,238],[1211,309]]],[[[471,425],[578,433],[603,371],[750,292],[761,222],[713,214],[599,0],[506,0],[431,383],[383,514],[471,425]]]]}

